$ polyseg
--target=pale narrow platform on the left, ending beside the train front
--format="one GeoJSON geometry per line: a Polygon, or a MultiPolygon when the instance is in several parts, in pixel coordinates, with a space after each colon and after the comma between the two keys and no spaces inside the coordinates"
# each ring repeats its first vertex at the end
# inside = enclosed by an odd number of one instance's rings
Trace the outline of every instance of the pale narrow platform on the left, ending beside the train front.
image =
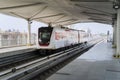
{"type": "Polygon", "coordinates": [[[9,48],[0,48],[0,58],[12,56],[16,54],[21,54],[25,52],[34,51],[36,46],[19,46],[19,47],[9,47],[9,48]]]}

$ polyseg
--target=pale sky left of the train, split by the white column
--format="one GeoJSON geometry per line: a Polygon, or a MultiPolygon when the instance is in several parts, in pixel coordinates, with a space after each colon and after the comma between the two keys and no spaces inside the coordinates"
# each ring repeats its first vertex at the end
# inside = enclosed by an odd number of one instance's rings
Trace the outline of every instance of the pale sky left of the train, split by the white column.
{"type": "MultiPolygon", "coordinates": [[[[33,21],[31,24],[31,32],[35,33],[41,26],[47,26],[44,23],[33,21]]],[[[28,23],[25,19],[12,17],[0,14],[0,29],[1,30],[19,30],[20,32],[27,32],[28,23]]]]}

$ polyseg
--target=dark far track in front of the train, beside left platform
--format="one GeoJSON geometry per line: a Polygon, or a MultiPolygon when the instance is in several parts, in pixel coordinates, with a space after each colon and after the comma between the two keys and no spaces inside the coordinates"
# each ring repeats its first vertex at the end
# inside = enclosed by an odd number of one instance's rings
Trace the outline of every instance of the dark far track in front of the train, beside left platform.
{"type": "Polygon", "coordinates": [[[38,50],[33,50],[18,55],[2,57],[0,58],[0,71],[42,58],[43,56],[45,55],[40,55],[38,50]]]}

